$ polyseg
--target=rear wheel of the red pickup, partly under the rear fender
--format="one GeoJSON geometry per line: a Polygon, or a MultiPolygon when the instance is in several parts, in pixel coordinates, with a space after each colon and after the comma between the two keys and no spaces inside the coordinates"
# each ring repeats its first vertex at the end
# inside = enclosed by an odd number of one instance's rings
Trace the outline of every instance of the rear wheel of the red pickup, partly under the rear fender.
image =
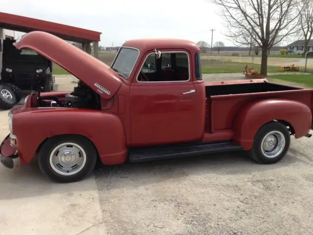
{"type": "Polygon", "coordinates": [[[290,132],[288,128],[278,121],[271,121],[257,132],[249,155],[258,163],[273,164],[286,155],[289,147],[290,132]]]}

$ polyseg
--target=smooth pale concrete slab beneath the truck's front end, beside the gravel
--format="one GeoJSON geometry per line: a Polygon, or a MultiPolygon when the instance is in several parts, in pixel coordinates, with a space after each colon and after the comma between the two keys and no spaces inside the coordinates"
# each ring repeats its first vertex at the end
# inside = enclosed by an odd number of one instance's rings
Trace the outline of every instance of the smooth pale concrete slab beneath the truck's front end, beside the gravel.
{"type": "MultiPolygon", "coordinates": [[[[0,139],[8,134],[0,112],[0,139]]],[[[73,184],[48,181],[37,164],[10,170],[0,165],[0,235],[98,235],[102,215],[94,176],[73,184]]]]}

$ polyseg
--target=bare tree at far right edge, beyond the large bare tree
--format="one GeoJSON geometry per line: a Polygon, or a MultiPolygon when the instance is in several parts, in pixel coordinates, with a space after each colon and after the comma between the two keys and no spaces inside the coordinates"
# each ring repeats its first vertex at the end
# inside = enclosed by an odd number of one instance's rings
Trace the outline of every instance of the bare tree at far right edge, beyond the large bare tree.
{"type": "Polygon", "coordinates": [[[298,11],[300,12],[300,28],[304,37],[303,56],[308,52],[308,45],[313,34],[313,2],[300,0],[298,11]],[[303,7],[304,6],[304,7],[303,7]]]}

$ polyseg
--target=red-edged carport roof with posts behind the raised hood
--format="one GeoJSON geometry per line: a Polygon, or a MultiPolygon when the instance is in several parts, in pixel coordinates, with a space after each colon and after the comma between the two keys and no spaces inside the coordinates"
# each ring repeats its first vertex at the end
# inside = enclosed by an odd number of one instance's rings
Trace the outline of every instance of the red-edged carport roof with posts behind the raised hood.
{"type": "Polygon", "coordinates": [[[90,43],[93,43],[94,57],[99,58],[100,32],[3,12],[0,12],[0,28],[25,33],[35,30],[45,31],[64,40],[81,43],[83,49],[89,54],[90,43]]]}

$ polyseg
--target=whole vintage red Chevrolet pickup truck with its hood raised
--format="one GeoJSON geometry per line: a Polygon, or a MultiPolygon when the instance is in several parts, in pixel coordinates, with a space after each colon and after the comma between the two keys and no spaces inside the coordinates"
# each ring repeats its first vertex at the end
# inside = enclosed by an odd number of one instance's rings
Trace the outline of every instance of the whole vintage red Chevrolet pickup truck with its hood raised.
{"type": "Polygon", "coordinates": [[[281,160],[291,135],[311,137],[313,90],[266,79],[204,82],[200,48],[189,41],[131,40],[109,67],[45,32],[15,43],[79,79],[72,92],[34,92],[9,113],[1,162],[37,156],[56,182],[87,177],[96,160],[121,164],[245,150],[281,160]]]}

